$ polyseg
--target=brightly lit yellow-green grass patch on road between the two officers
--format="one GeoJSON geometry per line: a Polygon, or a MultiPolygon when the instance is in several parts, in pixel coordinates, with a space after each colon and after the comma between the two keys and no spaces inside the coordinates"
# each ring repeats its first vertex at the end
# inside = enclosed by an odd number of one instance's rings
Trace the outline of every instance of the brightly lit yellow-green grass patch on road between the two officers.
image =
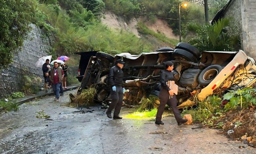
{"type": "Polygon", "coordinates": [[[154,108],[152,110],[142,110],[142,111],[138,110],[134,113],[125,115],[124,118],[142,119],[142,118],[155,117],[156,115],[157,115],[157,108],[154,108]]]}

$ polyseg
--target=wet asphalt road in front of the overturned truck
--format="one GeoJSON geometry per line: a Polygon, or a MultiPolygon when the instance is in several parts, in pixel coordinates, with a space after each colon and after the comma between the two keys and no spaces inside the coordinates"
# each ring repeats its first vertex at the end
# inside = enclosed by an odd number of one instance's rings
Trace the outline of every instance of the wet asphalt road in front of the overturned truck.
{"type": "Polygon", "coordinates": [[[218,130],[177,126],[174,117],[163,118],[164,125],[158,126],[149,120],[109,119],[99,106],[84,109],[92,113],[74,112],[78,109],[65,106],[69,93],[75,91],[66,92],[59,102],[45,97],[0,114],[0,153],[256,153],[218,130]],[[52,120],[36,118],[41,109],[52,120]],[[153,134],[156,131],[164,133],[153,134]]]}

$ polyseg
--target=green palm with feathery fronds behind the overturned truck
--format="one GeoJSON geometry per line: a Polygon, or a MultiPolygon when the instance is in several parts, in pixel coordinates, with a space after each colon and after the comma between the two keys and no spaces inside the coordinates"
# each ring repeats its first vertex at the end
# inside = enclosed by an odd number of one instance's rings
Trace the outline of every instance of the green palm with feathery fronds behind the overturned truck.
{"type": "Polygon", "coordinates": [[[232,26],[229,19],[222,18],[213,25],[204,26],[190,23],[182,29],[182,37],[189,34],[196,35],[188,43],[201,51],[235,51],[240,48],[238,35],[234,35],[237,28],[232,26]]]}

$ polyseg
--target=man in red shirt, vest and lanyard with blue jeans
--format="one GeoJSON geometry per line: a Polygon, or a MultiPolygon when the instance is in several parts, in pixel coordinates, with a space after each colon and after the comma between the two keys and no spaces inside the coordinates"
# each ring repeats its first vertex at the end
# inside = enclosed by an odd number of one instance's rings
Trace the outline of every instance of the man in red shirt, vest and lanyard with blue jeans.
{"type": "Polygon", "coordinates": [[[59,100],[59,89],[61,86],[61,81],[64,78],[64,72],[62,68],[58,67],[58,63],[54,62],[53,63],[53,68],[51,69],[51,76],[50,80],[52,82],[52,87],[53,87],[53,93],[56,94],[54,101],[59,100]]]}

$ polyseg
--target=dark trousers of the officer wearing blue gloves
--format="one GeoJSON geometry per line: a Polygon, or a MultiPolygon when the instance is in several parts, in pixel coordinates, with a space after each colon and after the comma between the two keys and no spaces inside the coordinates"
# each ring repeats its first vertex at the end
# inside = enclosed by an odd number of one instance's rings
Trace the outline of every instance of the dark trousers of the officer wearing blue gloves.
{"type": "Polygon", "coordinates": [[[111,88],[110,97],[112,102],[109,105],[107,112],[111,113],[115,108],[114,116],[118,116],[123,104],[123,87],[116,86],[116,91],[113,91],[111,88]]]}

